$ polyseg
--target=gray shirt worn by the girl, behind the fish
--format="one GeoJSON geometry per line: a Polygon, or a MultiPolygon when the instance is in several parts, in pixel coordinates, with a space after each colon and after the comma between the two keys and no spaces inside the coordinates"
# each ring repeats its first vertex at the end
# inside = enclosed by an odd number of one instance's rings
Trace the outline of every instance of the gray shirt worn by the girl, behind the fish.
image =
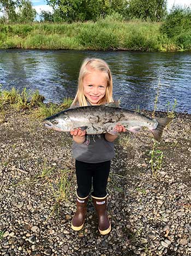
{"type": "MultiPolygon", "coordinates": [[[[91,104],[87,101],[88,106],[91,104]]],[[[73,107],[78,107],[76,104],[73,107]]],[[[71,147],[75,160],[86,163],[100,163],[109,161],[115,156],[114,143],[105,139],[105,134],[86,135],[83,144],[73,141],[71,147]]]]}

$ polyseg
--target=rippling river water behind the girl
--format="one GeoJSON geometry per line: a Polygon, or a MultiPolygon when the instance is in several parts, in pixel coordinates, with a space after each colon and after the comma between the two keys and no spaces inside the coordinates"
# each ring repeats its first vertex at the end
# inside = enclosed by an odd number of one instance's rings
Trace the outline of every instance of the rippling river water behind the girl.
{"type": "Polygon", "coordinates": [[[108,62],[114,98],[127,109],[191,113],[191,53],[93,52],[76,50],[0,50],[3,89],[38,89],[47,102],[74,97],[81,62],[86,57],[108,62]],[[159,86],[160,84],[160,86],[159,86]]]}

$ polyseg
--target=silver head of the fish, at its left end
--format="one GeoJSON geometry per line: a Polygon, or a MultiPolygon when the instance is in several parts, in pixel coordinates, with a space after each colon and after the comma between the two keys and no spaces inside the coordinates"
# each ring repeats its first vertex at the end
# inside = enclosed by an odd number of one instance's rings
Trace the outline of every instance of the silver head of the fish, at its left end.
{"type": "Polygon", "coordinates": [[[45,118],[43,122],[45,127],[59,132],[70,132],[73,129],[73,122],[66,113],[57,113],[45,118]]]}

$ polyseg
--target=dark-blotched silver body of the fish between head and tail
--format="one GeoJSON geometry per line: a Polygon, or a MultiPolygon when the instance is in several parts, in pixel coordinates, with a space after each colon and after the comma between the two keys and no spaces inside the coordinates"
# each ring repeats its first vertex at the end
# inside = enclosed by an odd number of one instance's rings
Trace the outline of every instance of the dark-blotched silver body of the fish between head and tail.
{"type": "Polygon", "coordinates": [[[126,129],[148,127],[155,129],[158,122],[140,113],[109,106],[85,106],[64,111],[73,122],[73,129],[84,127],[87,134],[111,132],[117,123],[126,129]]]}

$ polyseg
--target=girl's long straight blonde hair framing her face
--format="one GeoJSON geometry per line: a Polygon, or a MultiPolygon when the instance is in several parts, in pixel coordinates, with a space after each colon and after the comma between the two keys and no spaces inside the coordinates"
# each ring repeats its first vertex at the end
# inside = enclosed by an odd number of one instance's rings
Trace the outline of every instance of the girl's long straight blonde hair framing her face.
{"type": "Polygon", "coordinates": [[[112,97],[113,82],[112,82],[111,71],[108,64],[102,59],[86,58],[85,60],[83,60],[81,65],[79,78],[78,78],[77,93],[75,95],[75,98],[71,106],[76,105],[77,102],[79,103],[79,106],[87,106],[86,97],[83,93],[83,78],[87,74],[91,73],[92,70],[104,72],[106,74],[106,79],[108,81],[105,95],[102,99],[99,100],[98,105],[114,102],[114,99],[112,97]]]}

